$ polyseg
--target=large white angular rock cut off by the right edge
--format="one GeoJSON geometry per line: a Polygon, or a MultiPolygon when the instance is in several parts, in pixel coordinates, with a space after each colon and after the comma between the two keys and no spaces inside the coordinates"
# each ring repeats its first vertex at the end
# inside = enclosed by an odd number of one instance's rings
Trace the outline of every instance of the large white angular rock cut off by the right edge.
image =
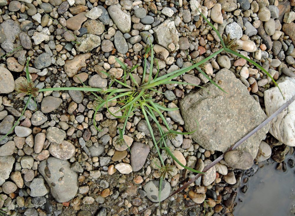
{"type": "MultiPolygon", "coordinates": [[[[295,78],[282,77],[278,81],[285,99],[283,99],[277,87],[270,88],[264,92],[264,104],[266,115],[272,115],[279,107],[295,95],[295,78]]],[[[287,146],[295,146],[295,102],[290,104],[273,120],[269,132],[276,139],[287,146]]]]}

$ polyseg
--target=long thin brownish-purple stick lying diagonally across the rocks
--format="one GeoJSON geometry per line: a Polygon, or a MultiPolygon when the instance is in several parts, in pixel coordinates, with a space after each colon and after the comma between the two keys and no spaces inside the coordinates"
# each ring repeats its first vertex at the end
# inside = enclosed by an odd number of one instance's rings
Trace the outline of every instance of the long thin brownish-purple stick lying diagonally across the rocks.
{"type": "MultiPolygon", "coordinates": [[[[295,100],[295,95],[289,100],[287,101],[285,104],[283,104],[276,112],[274,112],[270,117],[268,117],[266,120],[264,120],[263,122],[260,123],[260,125],[258,125],[256,128],[254,128],[250,133],[248,133],[246,136],[244,136],[242,139],[240,139],[239,141],[237,141],[232,147],[230,147],[227,151],[225,151],[222,155],[220,155],[217,159],[215,159],[212,163],[210,163],[207,167],[205,167],[202,172],[206,173],[211,167],[213,167],[215,164],[217,164],[219,161],[222,160],[222,158],[224,157],[224,154],[228,151],[232,151],[235,148],[237,148],[240,144],[242,144],[243,142],[245,142],[250,136],[252,136],[254,133],[256,133],[258,130],[260,130],[261,128],[263,128],[268,122],[270,122],[274,117],[276,117],[280,112],[282,112],[284,109],[286,109],[293,101],[295,100]]],[[[182,191],[184,188],[188,187],[191,183],[193,183],[197,178],[199,178],[202,174],[198,173],[197,175],[195,175],[193,178],[191,178],[188,182],[186,182],[183,186],[181,186],[180,188],[178,188],[176,191],[174,191],[170,196],[168,196],[166,199],[168,199],[169,197],[179,193],[180,191],[182,191]]],[[[164,201],[164,200],[163,200],[164,201]]],[[[162,202],[163,202],[162,201],[162,202]]],[[[153,205],[147,207],[146,209],[149,209],[151,207],[153,207],[153,205]]],[[[146,209],[142,210],[141,212],[138,212],[138,214],[141,214],[142,212],[144,212],[146,209]]]]}

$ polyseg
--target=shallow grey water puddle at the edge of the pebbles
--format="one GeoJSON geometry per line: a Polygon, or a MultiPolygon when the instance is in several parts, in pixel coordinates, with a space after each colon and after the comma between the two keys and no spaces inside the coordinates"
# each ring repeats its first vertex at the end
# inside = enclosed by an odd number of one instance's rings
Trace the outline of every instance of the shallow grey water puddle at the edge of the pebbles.
{"type": "MultiPolygon", "coordinates": [[[[240,189],[237,191],[237,206],[233,212],[235,216],[295,215],[295,167],[290,168],[289,158],[294,159],[294,155],[286,155],[286,172],[276,170],[278,163],[269,159],[269,164],[259,168],[254,175],[244,175],[243,179],[253,176],[245,183],[248,187],[245,194],[240,189]]],[[[255,170],[258,166],[252,168],[255,170]]]]}

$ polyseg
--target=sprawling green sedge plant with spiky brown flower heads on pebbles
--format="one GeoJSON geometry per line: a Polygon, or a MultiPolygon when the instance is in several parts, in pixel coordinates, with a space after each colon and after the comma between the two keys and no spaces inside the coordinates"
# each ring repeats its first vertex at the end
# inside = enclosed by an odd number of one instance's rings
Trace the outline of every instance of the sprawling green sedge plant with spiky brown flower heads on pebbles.
{"type": "MultiPolygon", "coordinates": [[[[25,95],[28,95],[29,98],[26,101],[26,104],[24,106],[24,109],[22,111],[21,116],[19,119],[15,122],[14,126],[11,128],[11,130],[5,135],[8,136],[14,129],[16,125],[19,124],[19,121],[21,117],[24,115],[25,109],[27,108],[30,100],[32,98],[35,99],[35,97],[40,92],[45,91],[68,91],[68,90],[76,90],[76,91],[85,91],[85,92],[91,92],[95,96],[95,101],[93,104],[95,104],[95,112],[93,117],[93,124],[94,127],[97,130],[100,130],[97,126],[97,123],[95,121],[95,116],[99,112],[101,108],[106,108],[106,110],[113,115],[116,118],[122,119],[124,121],[123,127],[118,128],[119,131],[119,138],[115,140],[116,144],[119,145],[126,145],[126,142],[123,138],[123,135],[126,130],[126,125],[128,122],[128,119],[133,116],[133,112],[135,109],[140,109],[142,112],[142,115],[148,125],[148,129],[150,132],[150,136],[152,138],[154,148],[156,149],[158,156],[160,158],[160,165],[156,164],[156,166],[159,168],[159,174],[160,174],[160,184],[159,184],[159,203],[160,203],[160,197],[161,197],[161,187],[163,180],[165,178],[168,178],[169,175],[171,175],[171,172],[173,172],[173,166],[170,164],[165,164],[162,156],[161,151],[165,151],[168,155],[171,156],[171,158],[177,162],[181,167],[186,168],[187,170],[190,170],[194,173],[201,173],[198,170],[194,170],[191,167],[187,167],[181,162],[178,161],[178,159],[173,155],[173,151],[171,147],[168,144],[169,140],[175,139],[178,134],[185,135],[185,134],[191,134],[194,133],[196,130],[191,132],[178,132],[175,130],[171,130],[169,127],[168,122],[166,121],[165,116],[162,114],[164,111],[175,111],[178,108],[167,108],[164,104],[161,104],[160,102],[155,102],[155,99],[153,98],[153,95],[155,93],[163,94],[162,92],[157,90],[157,87],[161,85],[170,85],[170,84],[178,84],[178,85],[191,85],[191,86],[197,86],[200,88],[203,88],[198,85],[194,85],[192,83],[186,83],[186,82],[179,82],[176,81],[176,78],[185,74],[186,72],[189,72],[190,70],[198,70],[201,74],[203,74],[213,85],[217,86],[221,91],[224,91],[220,86],[218,86],[203,70],[202,65],[204,65],[208,60],[215,58],[218,54],[225,51],[230,54],[234,54],[238,57],[241,57],[243,59],[246,59],[248,62],[252,63],[256,67],[258,67],[260,70],[262,70],[266,75],[268,75],[273,83],[275,83],[276,86],[277,83],[273,78],[270,76],[270,74],[260,65],[258,65],[256,62],[254,62],[251,59],[248,59],[247,57],[239,54],[237,50],[240,48],[236,43],[235,39],[231,39],[230,36],[221,36],[218,32],[218,30],[212,25],[212,23],[207,20],[207,18],[201,14],[201,16],[206,20],[206,22],[212,27],[212,29],[217,33],[222,48],[218,51],[214,52],[210,56],[204,58],[200,62],[193,62],[194,64],[190,67],[181,68],[178,70],[175,70],[173,72],[170,72],[168,74],[159,76],[159,67],[158,67],[158,61],[154,57],[154,51],[153,51],[153,44],[150,41],[150,44],[147,44],[147,46],[144,48],[143,56],[144,56],[144,68],[143,68],[143,74],[140,78],[137,74],[135,69],[139,65],[135,65],[133,67],[128,67],[123,62],[121,62],[119,59],[115,58],[116,61],[119,63],[119,65],[122,67],[124,74],[121,78],[116,78],[114,75],[109,74],[107,72],[101,71],[104,75],[106,75],[109,79],[109,85],[107,88],[91,88],[88,86],[85,86],[83,83],[83,87],[58,87],[58,88],[44,88],[44,89],[38,89],[35,87],[34,83],[30,80],[30,74],[29,74],[29,61],[30,57],[27,58],[27,65],[26,65],[26,76],[27,76],[27,82],[24,82],[20,85],[18,89],[18,96],[22,97],[25,95]],[[150,56],[150,67],[148,68],[148,55],[150,56]],[[157,69],[155,74],[153,74],[153,68],[157,69]],[[139,79],[137,79],[139,77],[139,79]],[[131,83],[128,82],[128,78],[130,78],[131,83]],[[118,88],[119,86],[119,88],[118,88]],[[101,96],[106,95],[103,99],[101,96]],[[109,108],[109,103],[114,102],[117,104],[116,106],[119,107],[119,109],[116,110],[116,112],[112,112],[109,108]],[[121,112],[122,115],[119,115],[118,113],[121,112]],[[162,124],[159,123],[157,117],[159,117],[162,121],[162,124]],[[152,123],[150,122],[152,120],[157,128],[158,134],[160,135],[160,139],[156,140],[154,130],[152,127],[152,123]]],[[[191,59],[189,59],[191,60],[191,59]]],[[[278,87],[279,88],[279,87],[278,87]]],[[[281,89],[280,89],[281,91],[281,89]]],[[[225,92],[225,91],[224,91],[225,92]]],[[[196,124],[197,125],[197,124],[196,124]]],[[[3,136],[2,139],[4,139],[3,136]]],[[[127,145],[128,146],[128,145],[127,145]]],[[[129,148],[129,146],[128,146],[129,148]]]]}

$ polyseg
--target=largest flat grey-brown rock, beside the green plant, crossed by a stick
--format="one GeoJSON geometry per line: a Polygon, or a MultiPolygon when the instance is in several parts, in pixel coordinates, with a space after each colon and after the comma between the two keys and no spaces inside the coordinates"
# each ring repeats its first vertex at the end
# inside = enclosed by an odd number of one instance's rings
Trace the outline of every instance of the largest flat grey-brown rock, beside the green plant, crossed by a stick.
{"type": "MultiPolygon", "coordinates": [[[[205,89],[185,96],[180,110],[187,131],[198,130],[192,138],[203,148],[226,151],[266,119],[260,105],[250,96],[247,88],[227,69],[220,70],[214,78],[222,92],[212,83],[205,89]]],[[[256,157],[260,141],[268,132],[269,124],[259,130],[237,149],[248,151],[256,157]]]]}

